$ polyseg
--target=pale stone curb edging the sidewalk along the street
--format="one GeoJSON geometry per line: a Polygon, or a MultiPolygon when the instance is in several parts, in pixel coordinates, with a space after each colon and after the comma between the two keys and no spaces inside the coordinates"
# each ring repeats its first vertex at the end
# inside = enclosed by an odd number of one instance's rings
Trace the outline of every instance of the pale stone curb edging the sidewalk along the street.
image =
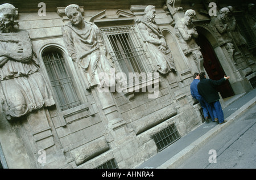
{"type": "Polygon", "coordinates": [[[256,104],[256,97],[251,99],[245,105],[243,105],[240,109],[238,109],[233,114],[229,115],[225,120],[227,121],[223,125],[216,125],[211,130],[209,130],[206,134],[202,135],[199,139],[195,140],[195,142],[191,143],[187,147],[185,147],[182,151],[177,153],[174,157],[170,158],[162,165],[158,166],[156,169],[174,169],[179,167],[187,158],[191,157],[193,153],[195,153],[199,148],[201,148],[205,143],[208,143],[209,139],[216,135],[218,132],[222,131],[225,127],[229,126],[230,123],[233,123],[236,118],[240,117],[243,113],[247,112],[251,108],[251,106],[256,104]]]}

